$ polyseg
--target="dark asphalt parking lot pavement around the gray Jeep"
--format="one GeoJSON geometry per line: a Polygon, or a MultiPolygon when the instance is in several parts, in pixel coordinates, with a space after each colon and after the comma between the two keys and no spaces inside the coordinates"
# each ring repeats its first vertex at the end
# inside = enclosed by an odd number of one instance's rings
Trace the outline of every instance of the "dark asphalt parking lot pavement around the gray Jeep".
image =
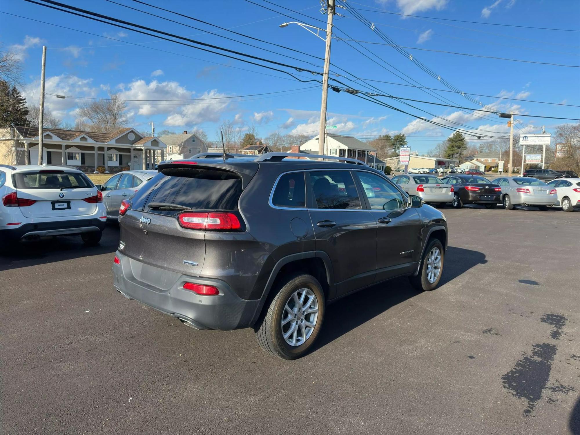
{"type": "Polygon", "coordinates": [[[329,307],[314,351],[114,291],[118,228],[0,256],[0,432],[580,434],[580,212],[445,209],[442,285],[329,307]]]}

